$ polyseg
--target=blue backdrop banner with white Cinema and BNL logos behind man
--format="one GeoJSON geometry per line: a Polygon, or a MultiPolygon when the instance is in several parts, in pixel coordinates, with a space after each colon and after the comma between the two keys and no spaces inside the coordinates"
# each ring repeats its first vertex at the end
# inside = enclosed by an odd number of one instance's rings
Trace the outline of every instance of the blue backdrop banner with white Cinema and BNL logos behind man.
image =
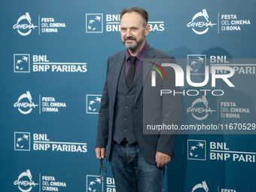
{"type": "Polygon", "coordinates": [[[133,6],[148,11],[148,44],[181,68],[164,190],[256,191],[253,0],[0,2],[1,191],[116,191],[108,164],[99,178],[96,125],[108,56],[125,49],[120,11],[133,6]]]}

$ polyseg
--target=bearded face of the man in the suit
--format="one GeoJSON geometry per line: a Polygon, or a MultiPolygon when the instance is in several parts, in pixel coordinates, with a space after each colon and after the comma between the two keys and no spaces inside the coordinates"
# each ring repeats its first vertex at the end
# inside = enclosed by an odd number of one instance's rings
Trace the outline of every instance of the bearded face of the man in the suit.
{"type": "Polygon", "coordinates": [[[136,12],[123,14],[120,20],[121,40],[129,50],[137,50],[145,42],[149,26],[144,26],[145,20],[136,12]]]}

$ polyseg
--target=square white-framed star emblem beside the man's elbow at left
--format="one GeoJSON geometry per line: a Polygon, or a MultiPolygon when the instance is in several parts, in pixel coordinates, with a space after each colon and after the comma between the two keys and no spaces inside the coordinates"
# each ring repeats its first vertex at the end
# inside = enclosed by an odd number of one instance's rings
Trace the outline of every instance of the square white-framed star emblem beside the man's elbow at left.
{"type": "Polygon", "coordinates": [[[87,114],[99,114],[99,105],[102,95],[87,95],[87,114]]]}

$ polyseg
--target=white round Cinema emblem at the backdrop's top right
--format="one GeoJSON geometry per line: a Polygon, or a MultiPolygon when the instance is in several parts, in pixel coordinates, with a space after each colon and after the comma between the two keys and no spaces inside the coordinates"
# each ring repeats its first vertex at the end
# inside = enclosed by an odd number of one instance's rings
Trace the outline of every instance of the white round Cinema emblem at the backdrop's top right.
{"type": "Polygon", "coordinates": [[[217,25],[217,23],[212,23],[209,20],[209,15],[207,14],[206,9],[195,14],[194,17],[192,17],[192,20],[187,23],[187,27],[191,27],[197,35],[205,34],[208,32],[209,28],[212,28],[215,25],[217,25]]]}

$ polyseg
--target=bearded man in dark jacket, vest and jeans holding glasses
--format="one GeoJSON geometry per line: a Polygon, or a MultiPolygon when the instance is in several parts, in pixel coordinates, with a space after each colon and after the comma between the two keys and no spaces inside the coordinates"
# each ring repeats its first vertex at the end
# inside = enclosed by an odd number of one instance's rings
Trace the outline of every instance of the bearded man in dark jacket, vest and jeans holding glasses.
{"type": "Polygon", "coordinates": [[[160,96],[161,87],[178,91],[172,68],[165,69],[171,74],[168,80],[157,75],[156,86],[151,86],[154,69],[149,66],[175,59],[148,45],[149,30],[147,11],[124,8],[120,35],[127,50],[108,58],[95,151],[98,159],[107,156],[118,192],[163,191],[164,166],[174,157],[175,134],[143,134],[145,123],[178,124],[179,114],[178,97],[160,96]]]}

